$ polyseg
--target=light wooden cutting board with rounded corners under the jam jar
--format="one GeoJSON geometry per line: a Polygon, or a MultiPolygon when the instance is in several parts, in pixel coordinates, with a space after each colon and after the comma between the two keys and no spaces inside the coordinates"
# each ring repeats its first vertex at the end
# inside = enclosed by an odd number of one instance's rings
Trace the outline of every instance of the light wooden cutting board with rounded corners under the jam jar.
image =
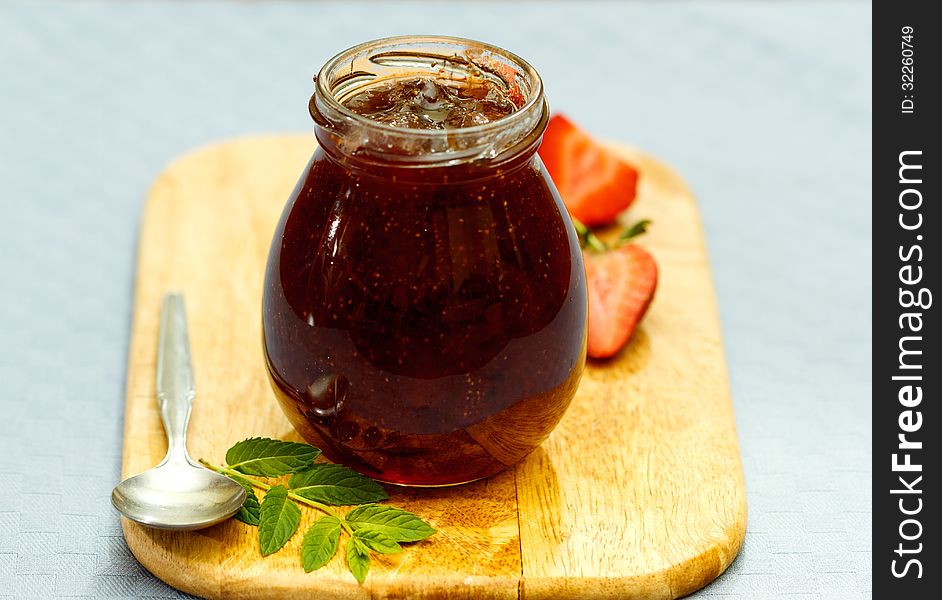
{"type": "MultiPolygon", "coordinates": [[[[310,136],[239,139],[199,149],[158,177],[140,233],[123,475],[166,451],[154,400],[164,291],[186,296],[197,398],[194,458],[221,461],[249,436],[298,439],[269,388],[261,349],[265,258],[310,136]]],[[[614,360],[590,361],[549,439],[516,468],[445,489],[391,489],[391,504],[439,533],[373,561],[357,585],[335,557],[306,574],[301,535],[262,558],[235,520],[197,532],[123,520],[140,562],[208,598],[675,598],[729,566],[746,495],[710,269],[684,183],[642,153],[629,217],[660,265],[657,296],[614,360]]],[[[305,511],[305,521],[313,516],[305,511]]]]}

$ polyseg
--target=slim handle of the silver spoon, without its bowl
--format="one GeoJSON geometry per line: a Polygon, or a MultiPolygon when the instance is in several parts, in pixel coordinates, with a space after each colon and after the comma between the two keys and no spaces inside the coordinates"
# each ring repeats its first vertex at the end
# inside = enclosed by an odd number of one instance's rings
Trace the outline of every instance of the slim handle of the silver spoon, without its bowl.
{"type": "Polygon", "coordinates": [[[167,432],[167,462],[186,457],[186,426],[196,396],[183,296],[164,294],[157,341],[157,404],[167,432]]]}

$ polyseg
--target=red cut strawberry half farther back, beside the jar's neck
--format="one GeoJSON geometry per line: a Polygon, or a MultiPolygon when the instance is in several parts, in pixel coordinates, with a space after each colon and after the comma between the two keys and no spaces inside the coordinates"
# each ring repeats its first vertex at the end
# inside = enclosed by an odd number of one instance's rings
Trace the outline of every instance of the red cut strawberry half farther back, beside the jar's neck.
{"type": "Polygon", "coordinates": [[[586,225],[611,223],[635,199],[638,172],[562,115],[549,120],[539,153],[569,214],[586,225]]]}

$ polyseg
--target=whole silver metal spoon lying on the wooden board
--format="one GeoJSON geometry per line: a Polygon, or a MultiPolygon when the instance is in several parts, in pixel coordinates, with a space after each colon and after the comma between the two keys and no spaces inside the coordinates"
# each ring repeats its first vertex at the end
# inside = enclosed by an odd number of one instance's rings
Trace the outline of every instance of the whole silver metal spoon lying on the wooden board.
{"type": "Polygon", "coordinates": [[[167,432],[167,455],[111,492],[111,503],[132,521],[160,529],[202,529],[228,519],[245,501],[241,485],[199,466],[187,454],[186,426],[195,395],[183,297],[165,294],[157,342],[157,404],[167,432]]]}

